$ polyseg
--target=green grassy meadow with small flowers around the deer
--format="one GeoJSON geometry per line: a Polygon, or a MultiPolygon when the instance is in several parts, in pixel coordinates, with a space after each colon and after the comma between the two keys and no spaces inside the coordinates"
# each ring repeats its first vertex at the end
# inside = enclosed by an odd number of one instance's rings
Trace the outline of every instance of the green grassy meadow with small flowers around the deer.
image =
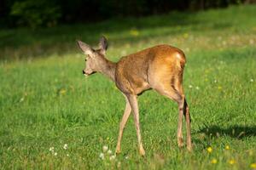
{"type": "Polygon", "coordinates": [[[38,31],[0,30],[0,169],[253,169],[255,15],[256,6],[237,6],[38,31]],[[122,153],[115,161],[100,159],[104,145],[115,149],[125,99],[106,77],[84,78],[84,56],[75,39],[96,45],[101,34],[108,37],[112,60],[159,43],[183,49],[192,153],[177,148],[177,104],[148,91],[139,97],[146,156],[138,155],[130,119],[122,153]]]}

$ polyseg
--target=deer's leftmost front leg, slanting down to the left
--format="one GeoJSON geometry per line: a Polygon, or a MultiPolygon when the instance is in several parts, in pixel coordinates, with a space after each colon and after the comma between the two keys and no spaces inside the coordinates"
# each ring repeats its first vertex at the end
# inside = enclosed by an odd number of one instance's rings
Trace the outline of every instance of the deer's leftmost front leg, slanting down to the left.
{"type": "Polygon", "coordinates": [[[125,100],[126,100],[125,112],[124,112],[123,118],[119,125],[119,138],[118,138],[118,143],[116,145],[116,150],[115,150],[115,153],[117,153],[117,154],[119,154],[121,152],[121,140],[122,140],[122,136],[123,136],[123,131],[125,128],[125,124],[128,120],[128,117],[131,114],[131,105],[130,105],[128,99],[126,98],[126,96],[125,96],[125,100]]]}

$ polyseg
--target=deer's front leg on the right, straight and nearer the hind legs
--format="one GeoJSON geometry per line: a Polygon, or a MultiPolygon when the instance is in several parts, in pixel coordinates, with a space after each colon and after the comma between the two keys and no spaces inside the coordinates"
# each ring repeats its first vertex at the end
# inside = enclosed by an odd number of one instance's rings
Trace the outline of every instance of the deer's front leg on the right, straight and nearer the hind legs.
{"type": "Polygon", "coordinates": [[[140,130],[140,122],[139,122],[139,111],[137,105],[137,96],[136,95],[128,95],[127,99],[131,105],[131,110],[133,111],[134,123],[137,131],[137,142],[139,147],[140,155],[145,155],[145,150],[143,149],[142,136],[140,130]]]}

